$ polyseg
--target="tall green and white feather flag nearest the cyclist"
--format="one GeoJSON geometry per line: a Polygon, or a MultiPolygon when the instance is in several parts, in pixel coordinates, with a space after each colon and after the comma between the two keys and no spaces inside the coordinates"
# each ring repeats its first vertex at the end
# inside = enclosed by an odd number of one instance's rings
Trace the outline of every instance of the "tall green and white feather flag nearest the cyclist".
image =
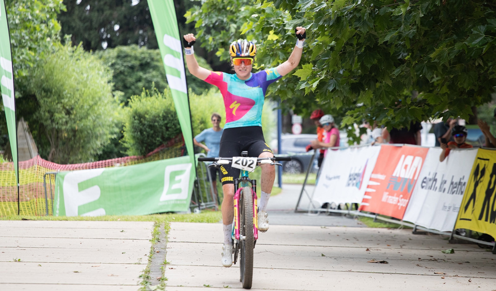
{"type": "Polygon", "coordinates": [[[187,152],[194,164],[193,134],[186,87],[183,48],[173,0],[148,0],[153,28],[163,58],[167,83],[171,88],[187,152]]]}

